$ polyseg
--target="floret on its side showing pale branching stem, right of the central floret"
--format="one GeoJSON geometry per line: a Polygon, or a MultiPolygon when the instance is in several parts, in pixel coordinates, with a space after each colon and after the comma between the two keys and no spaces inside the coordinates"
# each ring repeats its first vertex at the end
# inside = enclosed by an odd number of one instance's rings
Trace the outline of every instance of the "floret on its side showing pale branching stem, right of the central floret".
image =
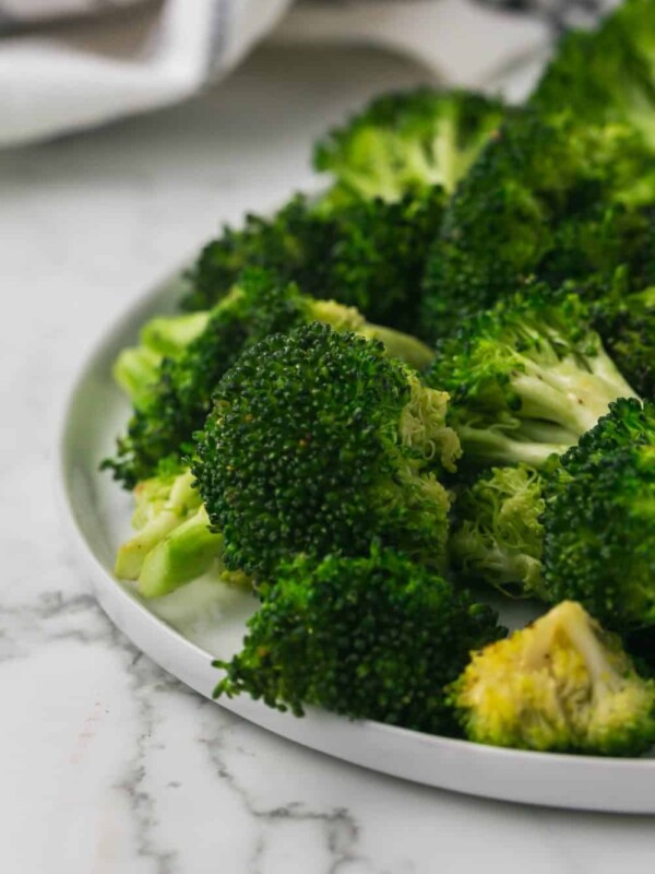
{"type": "Polygon", "coordinates": [[[574,445],[616,398],[634,397],[574,294],[534,287],[468,319],[426,376],[451,394],[465,460],[535,468],[574,445]]]}

